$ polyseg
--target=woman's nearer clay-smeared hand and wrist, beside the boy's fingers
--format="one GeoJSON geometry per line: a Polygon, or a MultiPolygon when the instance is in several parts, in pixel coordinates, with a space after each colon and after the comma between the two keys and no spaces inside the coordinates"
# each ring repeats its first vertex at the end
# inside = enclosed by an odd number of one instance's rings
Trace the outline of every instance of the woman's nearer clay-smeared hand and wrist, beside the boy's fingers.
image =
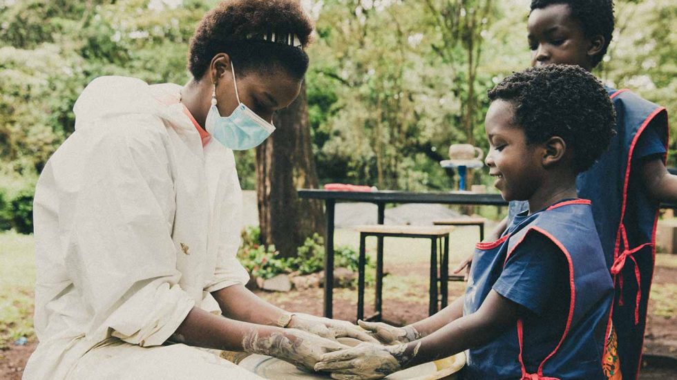
{"type": "Polygon", "coordinates": [[[252,330],[242,341],[242,347],[245,352],[276,357],[311,372],[323,354],[349,348],[336,341],[296,329],[268,335],[260,335],[252,330]]]}

